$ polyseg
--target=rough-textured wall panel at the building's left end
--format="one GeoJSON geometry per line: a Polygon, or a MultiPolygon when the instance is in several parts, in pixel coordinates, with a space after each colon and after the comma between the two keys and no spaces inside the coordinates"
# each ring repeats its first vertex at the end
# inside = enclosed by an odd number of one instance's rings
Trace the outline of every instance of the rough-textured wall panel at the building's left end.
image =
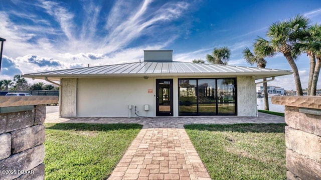
{"type": "Polygon", "coordinates": [[[62,97],[60,115],[62,117],[75,117],[76,116],[76,92],[77,92],[77,79],[67,78],[61,79],[62,97]]]}

